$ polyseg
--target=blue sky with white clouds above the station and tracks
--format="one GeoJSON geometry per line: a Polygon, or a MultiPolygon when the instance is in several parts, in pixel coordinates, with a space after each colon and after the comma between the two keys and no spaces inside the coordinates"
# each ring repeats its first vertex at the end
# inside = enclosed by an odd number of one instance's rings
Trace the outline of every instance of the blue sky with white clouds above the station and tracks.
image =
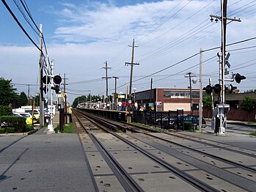
{"type": "MultiPolygon", "coordinates": [[[[153,88],[187,88],[187,73],[200,75],[202,48],[202,83],[219,83],[221,21],[220,0],[173,1],[84,1],[84,0],[13,0],[6,1],[10,10],[39,46],[38,30],[43,37],[54,72],[66,75],[67,99],[72,104],[81,95],[106,95],[108,76],[118,77],[117,93],[125,92],[130,82],[131,45],[134,65],[132,88],[136,92],[153,88]],[[29,18],[26,5],[36,25],[29,18]],[[20,11],[21,10],[21,11],[20,11]],[[27,22],[28,21],[28,22],[27,22]],[[33,30],[34,29],[34,30],[33,30]]],[[[246,76],[237,86],[241,92],[256,89],[256,1],[227,2],[227,17],[241,22],[227,24],[227,51],[230,53],[229,75],[246,76]]],[[[0,77],[12,80],[17,92],[34,96],[39,92],[40,51],[24,34],[10,12],[0,2],[0,77]],[[28,86],[29,85],[29,86],[28,86]]],[[[43,53],[47,56],[45,48],[43,53]]],[[[46,59],[47,60],[47,59],[46,59]]],[[[114,92],[114,78],[109,78],[109,95],[114,92]]],[[[63,80],[62,80],[63,82],[63,80]]],[[[200,84],[192,84],[199,88],[200,84]]]]}

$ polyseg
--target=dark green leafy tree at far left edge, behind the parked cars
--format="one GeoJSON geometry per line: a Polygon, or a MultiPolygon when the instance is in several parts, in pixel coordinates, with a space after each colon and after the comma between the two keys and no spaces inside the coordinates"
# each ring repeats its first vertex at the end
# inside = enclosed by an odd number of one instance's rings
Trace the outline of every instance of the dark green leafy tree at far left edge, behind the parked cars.
{"type": "Polygon", "coordinates": [[[0,106],[9,106],[11,103],[18,101],[16,89],[10,84],[11,81],[0,78],[0,106]]]}

